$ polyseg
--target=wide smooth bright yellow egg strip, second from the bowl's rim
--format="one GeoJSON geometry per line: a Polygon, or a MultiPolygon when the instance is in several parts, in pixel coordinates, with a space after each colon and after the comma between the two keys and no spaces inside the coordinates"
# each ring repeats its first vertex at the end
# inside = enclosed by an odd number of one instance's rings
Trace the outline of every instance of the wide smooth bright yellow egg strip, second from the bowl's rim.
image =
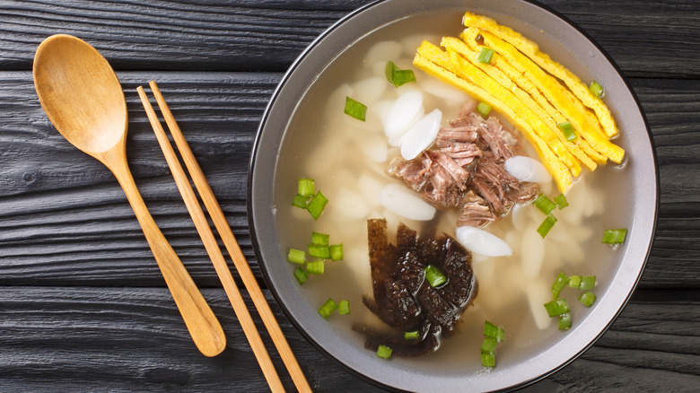
{"type": "Polygon", "coordinates": [[[547,74],[511,44],[487,31],[479,31],[479,33],[489,48],[494,48],[499,55],[503,56],[522,75],[527,77],[531,83],[539,87],[540,91],[547,96],[556,109],[560,110],[571,121],[573,128],[595,150],[608,156],[613,162],[622,162],[625,151],[608,141],[608,136],[601,129],[598,119],[591,113],[590,109],[583,106],[581,100],[578,100],[571,92],[564,89],[554,76],[547,74]]]}

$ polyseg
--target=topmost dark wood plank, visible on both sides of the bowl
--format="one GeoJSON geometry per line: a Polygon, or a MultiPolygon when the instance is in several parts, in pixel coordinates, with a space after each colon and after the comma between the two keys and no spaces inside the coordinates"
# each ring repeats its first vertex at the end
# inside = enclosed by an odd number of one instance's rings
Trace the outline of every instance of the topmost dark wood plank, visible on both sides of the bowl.
{"type": "MultiPolygon", "coordinates": [[[[328,26],[370,2],[4,0],[0,70],[31,69],[42,39],[68,33],[118,70],[284,71],[328,26]]],[[[696,1],[541,2],[581,26],[629,76],[700,76],[696,1]]]]}

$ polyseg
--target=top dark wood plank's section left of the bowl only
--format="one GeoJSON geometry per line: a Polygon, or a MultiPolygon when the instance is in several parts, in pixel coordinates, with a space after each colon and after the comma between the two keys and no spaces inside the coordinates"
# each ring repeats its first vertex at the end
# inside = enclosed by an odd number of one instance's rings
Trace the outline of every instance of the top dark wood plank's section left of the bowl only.
{"type": "Polygon", "coordinates": [[[328,26],[370,2],[5,0],[0,69],[31,69],[39,42],[66,33],[118,70],[283,71],[328,26]]]}

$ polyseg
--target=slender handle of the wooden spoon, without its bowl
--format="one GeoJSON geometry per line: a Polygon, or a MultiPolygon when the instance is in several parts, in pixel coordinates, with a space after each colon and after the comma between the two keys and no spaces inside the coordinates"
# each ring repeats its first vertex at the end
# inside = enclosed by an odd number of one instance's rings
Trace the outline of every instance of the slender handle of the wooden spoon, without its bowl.
{"type": "Polygon", "coordinates": [[[153,257],[161,269],[165,284],[171,291],[172,298],[178,306],[182,319],[185,320],[195,345],[206,356],[221,354],[226,346],[226,336],[223,334],[219,320],[197,289],[192,277],[175,254],[175,250],[153,221],[144,199],[136,188],[136,182],[128,169],[126,160],[114,160],[111,163],[108,165],[109,169],[127,194],[129,204],[134,209],[136,219],[141,224],[148,245],[153,251],[153,257]]]}

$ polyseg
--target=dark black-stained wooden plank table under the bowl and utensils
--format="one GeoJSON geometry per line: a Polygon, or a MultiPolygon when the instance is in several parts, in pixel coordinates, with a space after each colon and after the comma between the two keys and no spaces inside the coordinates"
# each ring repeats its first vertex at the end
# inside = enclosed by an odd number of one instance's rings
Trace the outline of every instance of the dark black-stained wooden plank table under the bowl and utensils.
{"type": "MultiPolygon", "coordinates": [[[[264,287],[245,207],[259,118],[302,49],[366,3],[0,0],[0,390],[267,390],[136,86],[159,82],[264,287]],[[39,42],[55,33],[91,42],[117,70],[136,183],[223,324],[228,347],[220,356],[204,357],[189,339],[115,179],[68,144],[39,106],[31,62],[39,42]]],[[[544,3],[605,48],[642,101],[659,158],[661,211],[651,258],[615,324],[581,358],[528,390],[698,391],[700,3],[544,3]]],[[[265,293],[313,389],[381,390],[319,354],[265,293]]]]}

